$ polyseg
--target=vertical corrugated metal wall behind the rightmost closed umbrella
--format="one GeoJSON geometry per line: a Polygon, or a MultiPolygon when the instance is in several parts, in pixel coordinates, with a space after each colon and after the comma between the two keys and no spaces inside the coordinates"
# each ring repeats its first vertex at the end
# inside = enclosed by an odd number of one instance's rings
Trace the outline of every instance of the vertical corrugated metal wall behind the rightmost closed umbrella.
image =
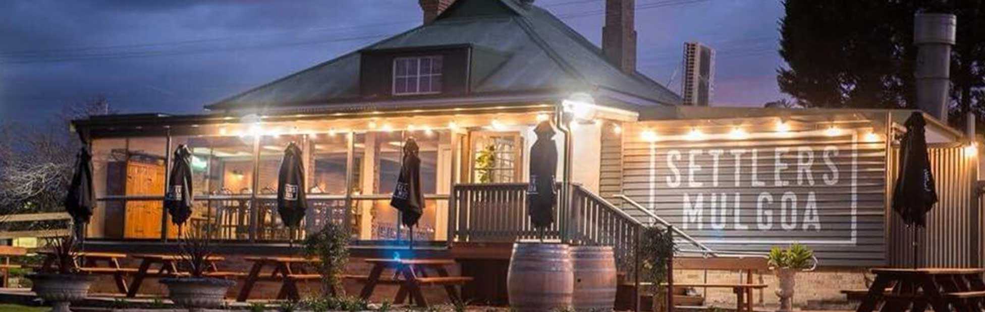
{"type": "MultiPolygon", "coordinates": [[[[985,245],[981,245],[981,211],[985,202],[972,199],[973,185],[977,183],[977,158],[966,155],[961,146],[932,148],[929,152],[940,201],[927,215],[927,227],[919,230],[917,263],[944,268],[981,266],[980,252],[985,250],[985,245]]],[[[898,148],[893,148],[888,166],[890,190],[899,171],[898,157],[898,148]]],[[[913,228],[904,225],[895,213],[888,214],[887,222],[888,264],[912,266],[913,228]]]]}

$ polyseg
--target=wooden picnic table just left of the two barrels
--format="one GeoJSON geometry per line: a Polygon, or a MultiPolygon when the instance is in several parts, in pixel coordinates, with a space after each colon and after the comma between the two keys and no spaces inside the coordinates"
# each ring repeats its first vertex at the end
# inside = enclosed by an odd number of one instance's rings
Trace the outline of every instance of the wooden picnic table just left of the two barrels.
{"type": "Polygon", "coordinates": [[[373,265],[368,276],[347,277],[364,283],[360,293],[363,300],[368,300],[376,285],[382,283],[400,285],[394,303],[403,303],[404,299],[410,296],[409,303],[427,307],[427,299],[421,291],[422,285],[444,286],[448,298],[452,302],[459,302],[461,299],[455,285],[472,281],[469,277],[452,277],[448,274],[445,266],[455,264],[451,259],[365,259],[364,261],[373,265]],[[384,278],[383,272],[386,270],[393,270],[393,275],[384,278]],[[433,271],[437,277],[429,277],[427,271],[433,271]]]}

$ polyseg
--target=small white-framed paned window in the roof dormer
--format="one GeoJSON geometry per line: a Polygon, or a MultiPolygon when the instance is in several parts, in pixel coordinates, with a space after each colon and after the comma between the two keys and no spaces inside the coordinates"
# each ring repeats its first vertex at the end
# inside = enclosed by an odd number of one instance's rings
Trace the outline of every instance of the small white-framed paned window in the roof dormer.
{"type": "Polygon", "coordinates": [[[441,56],[393,60],[394,95],[438,93],[441,93],[441,56]]]}

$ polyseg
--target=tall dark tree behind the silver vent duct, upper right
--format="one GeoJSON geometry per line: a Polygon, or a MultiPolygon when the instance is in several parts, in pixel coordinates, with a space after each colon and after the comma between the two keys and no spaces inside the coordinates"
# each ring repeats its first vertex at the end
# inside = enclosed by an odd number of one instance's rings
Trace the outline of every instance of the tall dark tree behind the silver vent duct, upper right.
{"type": "Polygon", "coordinates": [[[913,14],[957,16],[952,105],[985,109],[983,0],[786,0],[780,90],[805,107],[915,107],[913,14]]]}

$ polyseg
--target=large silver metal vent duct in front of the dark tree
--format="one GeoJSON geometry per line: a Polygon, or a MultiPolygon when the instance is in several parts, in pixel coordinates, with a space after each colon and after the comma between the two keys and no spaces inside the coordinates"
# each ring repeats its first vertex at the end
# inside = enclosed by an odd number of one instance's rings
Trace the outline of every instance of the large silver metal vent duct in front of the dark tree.
{"type": "Polygon", "coordinates": [[[947,123],[951,90],[951,47],[957,17],[917,13],[913,43],[917,45],[917,106],[947,123]]]}

